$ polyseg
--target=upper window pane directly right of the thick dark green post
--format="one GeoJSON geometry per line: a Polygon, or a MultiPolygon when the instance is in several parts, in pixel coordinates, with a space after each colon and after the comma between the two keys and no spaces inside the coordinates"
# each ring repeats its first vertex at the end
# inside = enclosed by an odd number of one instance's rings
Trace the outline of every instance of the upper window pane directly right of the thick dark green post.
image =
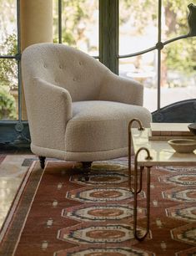
{"type": "Polygon", "coordinates": [[[119,54],[133,54],[157,43],[158,1],[119,0],[119,54]]]}

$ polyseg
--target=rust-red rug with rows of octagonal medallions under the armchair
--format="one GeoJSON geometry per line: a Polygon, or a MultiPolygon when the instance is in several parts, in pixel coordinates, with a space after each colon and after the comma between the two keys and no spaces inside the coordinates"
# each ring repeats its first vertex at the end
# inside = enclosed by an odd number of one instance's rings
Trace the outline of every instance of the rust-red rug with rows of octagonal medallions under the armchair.
{"type": "MultiPolygon", "coordinates": [[[[31,171],[0,255],[196,255],[195,168],[152,169],[150,233],[143,242],[133,238],[127,159],[94,162],[88,182],[79,164],[48,161],[43,172],[33,162],[31,171]]],[[[145,182],[138,198],[143,233],[145,182]]]]}

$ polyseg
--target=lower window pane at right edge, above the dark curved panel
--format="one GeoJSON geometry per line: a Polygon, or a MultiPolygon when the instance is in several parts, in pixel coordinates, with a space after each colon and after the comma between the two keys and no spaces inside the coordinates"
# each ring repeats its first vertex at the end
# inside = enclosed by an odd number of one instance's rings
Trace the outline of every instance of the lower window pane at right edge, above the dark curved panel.
{"type": "Polygon", "coordinates": [[[163,49],[161,107],[196,98],[196,39],[168,44],[163,49]]]}

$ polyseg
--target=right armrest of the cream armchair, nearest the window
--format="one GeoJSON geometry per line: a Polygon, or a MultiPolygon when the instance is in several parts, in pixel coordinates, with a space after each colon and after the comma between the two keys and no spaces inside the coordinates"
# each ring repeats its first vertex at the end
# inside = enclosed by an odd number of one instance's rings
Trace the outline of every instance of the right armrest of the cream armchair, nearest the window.
{"type": "Polygon", "coordinates": [[[109,71],[102,81],[99,100],[143,105],[143,85],[109,71]]]}

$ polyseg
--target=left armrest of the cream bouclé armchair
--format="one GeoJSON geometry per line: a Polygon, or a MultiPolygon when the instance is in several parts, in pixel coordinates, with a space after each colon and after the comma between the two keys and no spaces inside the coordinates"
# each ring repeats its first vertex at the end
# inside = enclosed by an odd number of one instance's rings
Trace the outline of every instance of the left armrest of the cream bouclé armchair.
{"type": "Polygon", "coordinates": [[[25,99],[33,145],[63,150],[66,125],[73,116],[68,90],[33,78],[25,99]]]}

